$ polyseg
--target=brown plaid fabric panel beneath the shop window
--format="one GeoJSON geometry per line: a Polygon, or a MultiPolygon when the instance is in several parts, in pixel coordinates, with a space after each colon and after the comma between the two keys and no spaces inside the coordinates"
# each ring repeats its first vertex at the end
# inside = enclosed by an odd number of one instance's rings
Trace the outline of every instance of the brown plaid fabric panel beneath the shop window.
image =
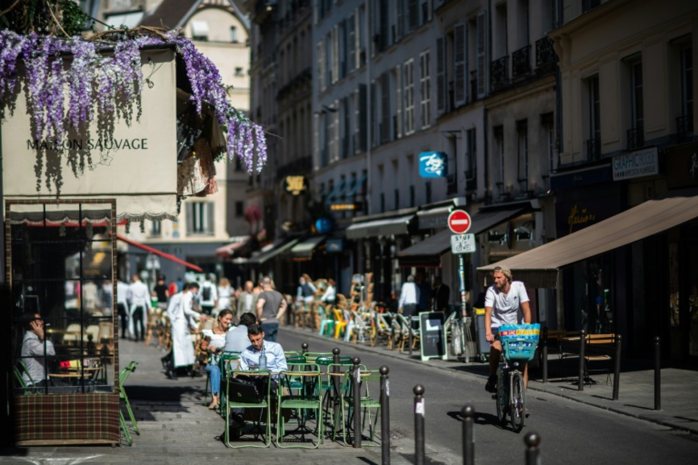
{"type": "Polygon", "coordinates": [[[16,441],[96,440],[118,443],[119,395],[15,396],[16,441]]]}

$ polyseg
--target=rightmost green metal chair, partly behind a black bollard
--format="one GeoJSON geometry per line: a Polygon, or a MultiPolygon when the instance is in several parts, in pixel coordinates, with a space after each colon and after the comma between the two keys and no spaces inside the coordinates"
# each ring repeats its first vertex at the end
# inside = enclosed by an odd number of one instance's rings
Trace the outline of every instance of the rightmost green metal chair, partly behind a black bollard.
{"type": "MultiPolygon", "coordinates": [[[[362,434],[362,439],[366,437],[370,443],[362,445],[366,446],[378,446],[380,443],[374,441],[376,436],[376,424],[378,423],[378,418],[380,418],[380,397],[374,398],[373,395],[380,395],[380,372],[378,370],[366,370],[363,367],[359,369],[361,382],[359,383],[359,405],[360,411],[354,411],[354,395],[352,391],[352,370],[347,371],[344,374],[344,380],[342,383],[342,397],[341,397],[341,417],[342,417],[342,440],[344,445],[348,445],[347,442],[347,431],[353,430],[353,418],[354,415],[358,414],[362,416],[361,421],[361,431],[353,432],[354,436],[356,434],[362,434]],[[371,409],[373,411],[373,421],[371,421],[371,409]],[[346,415],[345,415],[346,411],[346,415]],[[366,420],[368,420],[369,435],[363,436],[364,429],[366,429],[366,420]]],[[[332,438],[334,440],[334,436],[332,438]]]]}

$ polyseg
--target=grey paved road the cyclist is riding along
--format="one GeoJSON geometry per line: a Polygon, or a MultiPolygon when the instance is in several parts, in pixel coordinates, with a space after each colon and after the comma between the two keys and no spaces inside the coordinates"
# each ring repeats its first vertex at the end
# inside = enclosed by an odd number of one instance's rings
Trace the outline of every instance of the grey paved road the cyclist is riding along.
{"type": "Polygon", "coordinates": [[[542,437],[543,462],[598,465],[659,464],[692,462],[698,453],[696,436],[573,402],[546,392],[529,391],[531,416],[520,434],[500,427],[491,395],[484,391],[484,378],[443,369],[442,362],[416,364],[406,356],[366,351],[362,346],[336,344],[304,333],[281,331],[279,341],[286,350],[297,350],[302,342],[311,351],[331,351],[339,346],[342,355],[357,355],[369,369],[390,368],[391,429],[403,439],[394,441],[396,452],[413,454],[413,387],[421,383],[426,398],[426,450],[431,463],[454,464],[461,458],[459,412],[471,404],[477,412],[475,459],[478,465],[500,465],[514,459],[523,463],[523,435],[535,431],[542,437]],[[439,365],[438,367],[436,365],[439,365]],[[520,457],[520,459],[519,459],[520,457]],[[520,461],[519,461],[520,460],[520,461]]]}

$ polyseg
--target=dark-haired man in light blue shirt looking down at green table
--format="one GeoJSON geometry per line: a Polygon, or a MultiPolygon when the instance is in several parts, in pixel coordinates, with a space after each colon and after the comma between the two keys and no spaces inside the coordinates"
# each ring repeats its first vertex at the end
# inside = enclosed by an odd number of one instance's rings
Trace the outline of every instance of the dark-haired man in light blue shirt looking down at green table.
{"type": "MultiPolygon", "coordinates": [[[[267,359],[267,369],[272,374],[288,370],[283,347],[277,342],[265,341],[262,326],[256,323],[248,326],[247,337],[251,344],[240,354],[240,369],[260,369],[260,358],[264,356],[267,359]]],[[[272,393],[276,392],[276,387],[278,386],[277,378],[278,376],[272,375],[272,393]]],[[[269,379],[265,377],[258,378],[258,380],[260,381],[258,383],[258,392],[267,392],[266,383],[269,382],[269,379]]],[[[230,411],[230,434],[233,437],[239,437],[240,429],[244,426],[243,413],[244,409],[231,409],[230,411]]]]}

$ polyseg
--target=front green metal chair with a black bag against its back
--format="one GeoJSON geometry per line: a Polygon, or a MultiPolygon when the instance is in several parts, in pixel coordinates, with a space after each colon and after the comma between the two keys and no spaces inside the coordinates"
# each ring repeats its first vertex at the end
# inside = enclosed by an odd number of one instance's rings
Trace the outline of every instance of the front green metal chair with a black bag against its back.
{"type": "MultiPolygon", "coordinates": [[[[239,449],[239,448],[268,448],[272,444],[272,395],[271,388],[272,383],[267,383],[267,392],[264,393],[264,397],[258,402],[239,402],[236,401],[235,392],[230,390],[230,379],[236,376],[272,376],[269,370],[242,370],[242,369],[232,369],[228,372],[228,376],[225,377],[225,399],[221,397],[221,402],[223,402],[223,409],[225,409],[225,432],[223,433],[223,441],[228,448],[239,449]],[[230,409],[261,409],[260,420],[255,421],[253,424],[253,431],[255,431],[255,439],[258,437],[258,431],[260,430],[260,423],[262,415],[266,411],[265,420],[266,427],[264,432],[264,443],[260,444],[238,444],[232,445],[230,443],[230,409]]],[[[244,434],[244,431],[242,432],[244,434]]]]}

